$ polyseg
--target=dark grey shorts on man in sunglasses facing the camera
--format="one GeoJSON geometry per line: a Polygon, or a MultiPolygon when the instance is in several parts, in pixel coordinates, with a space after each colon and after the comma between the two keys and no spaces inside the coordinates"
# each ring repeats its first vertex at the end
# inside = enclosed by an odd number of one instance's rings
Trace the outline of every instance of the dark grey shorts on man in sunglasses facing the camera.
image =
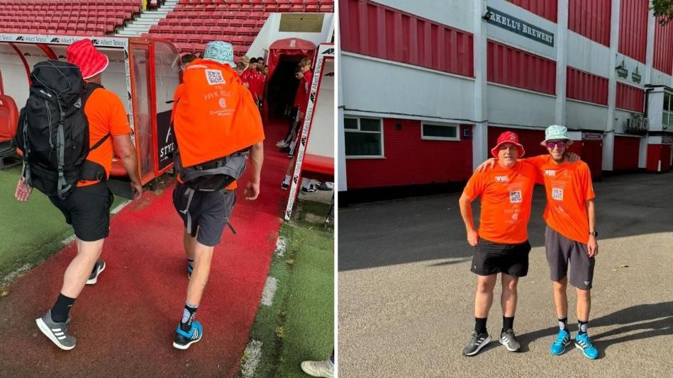
{"type": "Polygon", "coordinates": [[[552,281],[562,280],[568,273],[570,265],[570,285],[582,290],[591,289],[594,280],[595,259],[589,258],[586,244],[568,239],[555,229],[547,226],[545,231],[545,247],[552,281]]]}

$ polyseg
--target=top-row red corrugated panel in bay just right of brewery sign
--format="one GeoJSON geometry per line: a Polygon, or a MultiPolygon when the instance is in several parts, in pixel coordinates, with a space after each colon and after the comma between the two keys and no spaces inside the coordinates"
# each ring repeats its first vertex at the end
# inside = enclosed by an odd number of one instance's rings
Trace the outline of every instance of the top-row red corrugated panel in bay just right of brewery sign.
{"type": "Polygon", "coordinates": [[[610,46],[611,0],[569,0],[568,28],[610,46]]]}

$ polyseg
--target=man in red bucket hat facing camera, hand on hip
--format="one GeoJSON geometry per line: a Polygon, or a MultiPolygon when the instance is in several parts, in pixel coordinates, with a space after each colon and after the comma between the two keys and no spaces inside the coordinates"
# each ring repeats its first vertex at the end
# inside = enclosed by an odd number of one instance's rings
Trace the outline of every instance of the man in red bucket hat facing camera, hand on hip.
{"type": "Polygon", "coordinates": [[[474,248],[472,273],[477,274],[477,295],[474,298],[474,331],[463,350],[476,355],[491,341],[486,319],[493,302],[493,289],[501,273],[503,327],[500,343],[516,352],[521,345],[513,331],[516,311],[516,285],[519,277],[528,274],[528,219],[533,186],[542,183],[535,167],[518,161],[525,153],[518,135],[503,132],[491,154],[498,158],[496,167],[476,172],[469,178],[460,196],[460,214],[467,229],[467,242],[474,248]],[[472,220],[472,201],[482,202],[479,229],[472,220]]]}

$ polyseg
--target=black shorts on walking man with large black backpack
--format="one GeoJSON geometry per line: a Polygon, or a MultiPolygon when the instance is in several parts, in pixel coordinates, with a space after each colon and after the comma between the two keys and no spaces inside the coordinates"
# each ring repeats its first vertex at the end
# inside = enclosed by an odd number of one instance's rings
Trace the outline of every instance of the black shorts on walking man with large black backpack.
{"type": "Polygon", "coordinates": [[[114,196],[107,183],[74,188],[65,200],[56,196],[49,199],[65,215],[65,222],[72,224],[77,239],[96,241],[108,236],[114,196]]]}

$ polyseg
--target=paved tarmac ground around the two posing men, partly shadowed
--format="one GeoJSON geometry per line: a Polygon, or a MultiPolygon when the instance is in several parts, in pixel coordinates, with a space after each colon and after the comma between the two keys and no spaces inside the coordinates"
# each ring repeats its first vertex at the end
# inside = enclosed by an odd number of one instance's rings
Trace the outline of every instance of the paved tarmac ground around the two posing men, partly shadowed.
{"type": "MultiPolygon", "coordinates": [[[[558,330],[535,188],[528,227],[530,269],[518,285],[514,329],[520,353],[492,341],[479,355],[462,348],[474,327],[476,276],[460,218],[460,193],[346,207],[338,218],[339,376],[345,377],[673,377],[673,173],[637,173],[594,183],[599,255],[589,335],[600,356],[570,345],[549,353],[558,330]]],[[[473,203],[478,219],[479,201],[473,203]]],[[[574,337],[574,288],[569,287],[574,337]]]]}

